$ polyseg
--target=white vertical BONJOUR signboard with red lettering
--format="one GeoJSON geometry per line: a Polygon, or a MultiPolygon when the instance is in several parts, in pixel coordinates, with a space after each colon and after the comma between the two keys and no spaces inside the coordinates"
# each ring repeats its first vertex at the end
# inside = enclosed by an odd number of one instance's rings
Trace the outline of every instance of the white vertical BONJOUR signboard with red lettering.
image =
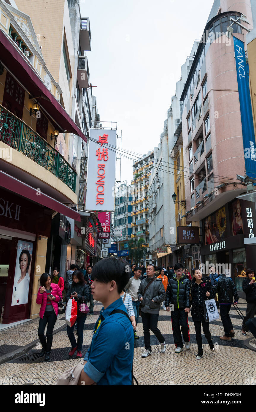
{"type": "Polygon", "coordinates": [[[86,210],[114,211],[116,130],[91,129],[86,210]]]}

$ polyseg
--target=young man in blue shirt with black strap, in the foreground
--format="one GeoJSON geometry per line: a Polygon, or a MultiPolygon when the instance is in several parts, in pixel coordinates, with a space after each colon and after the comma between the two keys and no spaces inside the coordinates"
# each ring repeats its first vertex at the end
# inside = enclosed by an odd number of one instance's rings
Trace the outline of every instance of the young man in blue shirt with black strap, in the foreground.
{"type": "Polygon", "coordinates": [[[82,385],[132,385],[134,330],[120,293],[129,281],[129,264],[115,258],[103,259],[93,267],[92,296],[102,302],[91,346],[80,375],[82,385]]]}

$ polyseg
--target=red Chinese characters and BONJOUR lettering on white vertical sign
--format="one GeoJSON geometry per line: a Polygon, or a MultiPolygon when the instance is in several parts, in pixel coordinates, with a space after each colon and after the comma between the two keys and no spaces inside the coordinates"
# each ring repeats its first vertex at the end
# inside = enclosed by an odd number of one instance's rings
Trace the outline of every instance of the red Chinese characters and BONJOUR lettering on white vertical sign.
{"type": "MultiPolygon", "coordinates": [[[[103,136],[99,136],[99,143],[101,146],[104,143],[108,143],[108,134],[103,134],[103,136]]],[[[102,150],[99,148],[96,150],[96,156],[98,156],[98,160],[103,162],[108,161],[108,149],[103,147],[102,150]]],[[[96,205],[104,204],[104,195],[105,195],[105,163],[98,164],[98,172],[97,172],[97,181],[95,182],[97,185],[97,193],[96,193],[96,205]]]]}

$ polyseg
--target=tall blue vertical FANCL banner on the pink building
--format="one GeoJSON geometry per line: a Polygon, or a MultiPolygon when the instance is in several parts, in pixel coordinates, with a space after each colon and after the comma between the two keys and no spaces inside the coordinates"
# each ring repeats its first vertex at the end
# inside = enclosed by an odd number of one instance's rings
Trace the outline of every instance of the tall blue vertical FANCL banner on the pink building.
{"type": "Polygon", "coordinates": [[[244,43],[235,36],[233,36],[233,39],[242,121],[245,173],[247,176],[256,179],[256,143],[249,89],[249,66],[245,58],[244,43]]]}

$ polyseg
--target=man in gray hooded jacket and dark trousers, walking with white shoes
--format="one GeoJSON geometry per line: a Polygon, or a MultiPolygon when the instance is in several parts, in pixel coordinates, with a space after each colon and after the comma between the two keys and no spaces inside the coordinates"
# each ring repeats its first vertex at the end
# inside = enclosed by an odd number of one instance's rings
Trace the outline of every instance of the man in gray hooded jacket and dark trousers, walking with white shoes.
{"type": "Polygon", "coordinates": [[[141,281],[138,290],[138,299],[141,302],[141,318],[146,349],[146,351],[141,355],[142,358],[147,358],[152,353],[149,330],[152,330],[160,342],[161,352],[164,353],[166,350],[165,339],[160,330],[157,328],[161,303],[165,300],[166,294],[162,280],[155,276],[155,269],[156,268],[154,265],[148,265],[147,277],[141,281]]]}

